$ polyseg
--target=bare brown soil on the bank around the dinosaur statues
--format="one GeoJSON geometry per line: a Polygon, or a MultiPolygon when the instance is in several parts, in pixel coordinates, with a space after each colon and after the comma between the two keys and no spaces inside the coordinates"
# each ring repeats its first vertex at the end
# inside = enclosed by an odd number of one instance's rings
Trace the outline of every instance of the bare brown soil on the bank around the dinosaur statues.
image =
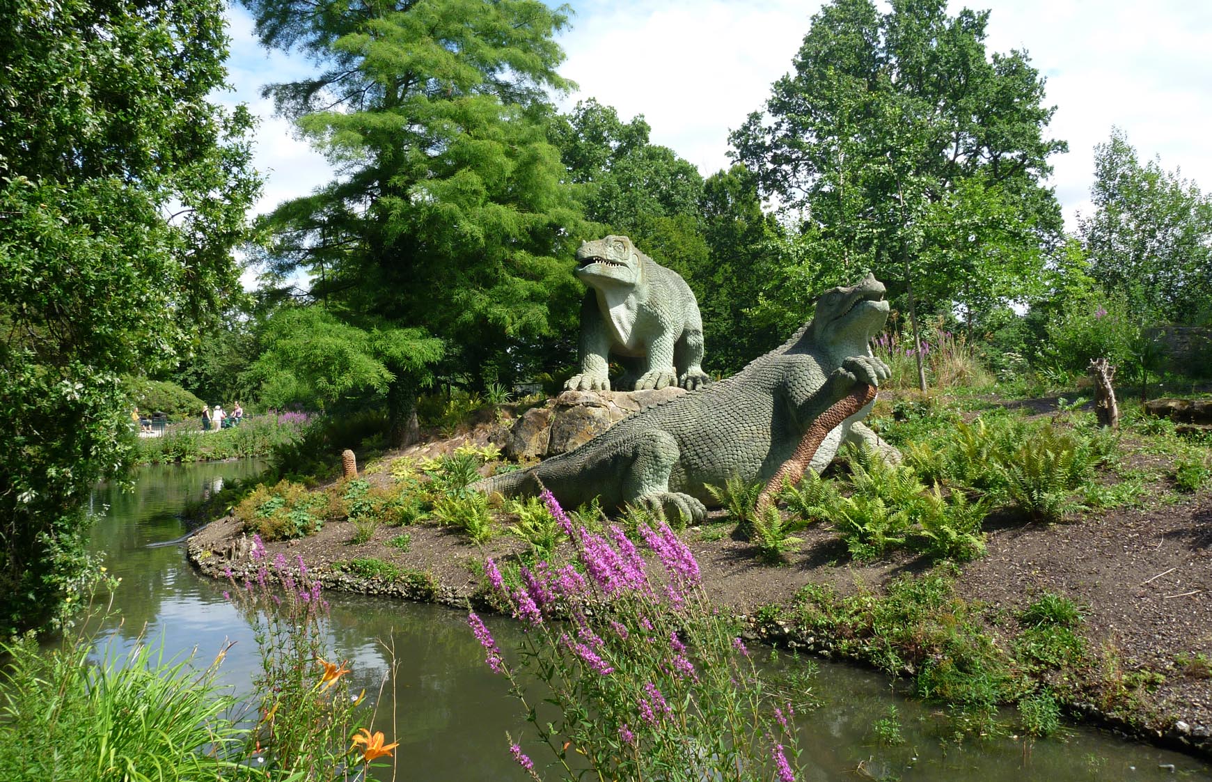
{"type": "MultiPolygon", "coordinates": [[[[482,441],[490,428],[478,427],[470,439],[482,441]]],[[[448,452],[467,439],[415,446],[400,455],[448,452]]],[[[990,518],[988,555],[961,567],[956,592],[1006,612],[1021,611],[1042,592],[1084,606],[1091,649],[1117,658],[1126,672],[1165,675],[1142,703],[1134,732],[1199,747],[1200,754],[1207,754],[1212,753],[1212,678],[1190,675],[1176,660],[1196,653],[1212,657],[1212,491],[1174,501],[1174,495],[1159,490],[1155,497],[1140,509],[1086,514],[1047,526],[990,518]]],[[[686,540],[708,593],[744,615],[767,604],[788,604],[810,582],[830,583],[852,594],[861,586],[879,590],[892,578],[928,566],[909,553],[871,564],[852,563],[835,533],[821,526],[799,533],[802,542],[787,565],[764,565],[748,543],[733,541],[726,527],[713,525],[719,512],[711,515],[707,525],[687,531],[686,540]]],[[[382,526],[372,540],[356,546],[349,543],[353,533],[350,523],[330,523],[314,537],[271,543],[269,549],[292,559],[299,555],[321,572],[355,558],[425,571],[441,586],[439,600],[462,604],[480,586],[479,564],[485,558],[505,558],[525,548],[509,536],[475,546],[454,530],[429,524],[382,526]],[[411,536],[407,552],[385,544],[401,532],[411,536]]],[[[217,575],[231,561],[233,541],[239,536],[239,523],[230,516],[215,521],[190,541],[190,559],[217,575]]],[[[377,590],[349,578],[341,586],[377,590]]]]}

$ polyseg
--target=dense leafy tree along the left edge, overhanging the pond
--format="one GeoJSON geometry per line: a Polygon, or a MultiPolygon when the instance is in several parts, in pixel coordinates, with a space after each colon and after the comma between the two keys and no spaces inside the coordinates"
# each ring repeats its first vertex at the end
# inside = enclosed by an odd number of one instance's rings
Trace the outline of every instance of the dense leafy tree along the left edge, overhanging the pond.
{"type": "Polygon", "coordinates": [[[216,0],[0,6],[0,635],[70,613],[82,510],[132,453],[120,375],[166,371],[239,286],[259,183],[216,0]]]}

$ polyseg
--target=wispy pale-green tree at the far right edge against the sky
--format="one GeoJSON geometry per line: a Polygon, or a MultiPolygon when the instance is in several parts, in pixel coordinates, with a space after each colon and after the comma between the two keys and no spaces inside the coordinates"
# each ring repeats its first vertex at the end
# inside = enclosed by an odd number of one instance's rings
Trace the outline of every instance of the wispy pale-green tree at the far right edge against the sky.
{"type": "Polygon", "coordinates": [[[1212,199],[1157,159],[1142,166],[1113,129],[1094,148],[1091,200],[1079,219],[1091,276],[1142,320],[1212,321],[1212,199]]]}

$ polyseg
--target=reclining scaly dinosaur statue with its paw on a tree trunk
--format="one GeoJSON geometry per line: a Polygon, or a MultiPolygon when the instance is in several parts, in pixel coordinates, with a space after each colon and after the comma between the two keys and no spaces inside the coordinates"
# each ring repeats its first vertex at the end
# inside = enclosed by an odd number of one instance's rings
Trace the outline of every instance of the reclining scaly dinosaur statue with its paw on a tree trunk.
{"type": "MultiPolygon", "coordinates": [[[[737,375],[633,413],[573,451],[476,487],[518,496],[537,493],[542,483],[564,507],[600,496],[611,509],[634,503],[702,520],[710,501],[707,484],[724,485],[732,476],[770,480],[822,413],[857,383],[877,387],[888,377],[868,344],[887,320],[884,293],[871,275],[853,287],[835,287],[785,344],[737,375]]],[[[873,405],[874,398],[834,427],[810,467],[824,469],[844,439],[874,440],[870,429],[853,426],[873,405]]]]}

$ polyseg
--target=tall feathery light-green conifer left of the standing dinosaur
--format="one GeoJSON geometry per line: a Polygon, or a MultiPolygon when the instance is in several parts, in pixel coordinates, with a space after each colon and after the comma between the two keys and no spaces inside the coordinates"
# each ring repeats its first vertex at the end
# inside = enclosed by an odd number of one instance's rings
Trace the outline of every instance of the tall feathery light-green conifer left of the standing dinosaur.
{"type": "MultiPolygon", "coordinates": [[[[278,109],[338,176],[267,221],[270,273],[307,270],[310,298],[358,329],[448,348],[440,371],[510,382],[537,337],[576,312],[581,212],[547,141],[547,90],[564,90],[566,24],[537,0],[247,0],[265,46],[321,72],[270,85],[278,109]]],[[[391,375],[390,438],[408,436],[421,378],[391,375]]]]}

